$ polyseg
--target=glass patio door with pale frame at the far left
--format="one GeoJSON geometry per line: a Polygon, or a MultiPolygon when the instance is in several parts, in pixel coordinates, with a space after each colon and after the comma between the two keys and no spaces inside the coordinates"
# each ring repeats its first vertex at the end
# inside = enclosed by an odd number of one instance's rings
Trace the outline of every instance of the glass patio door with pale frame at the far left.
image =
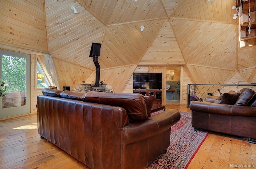
{"type": "Polygon", "coordinates": [[[30,113],[30,55],[0,49],[0,80],[7,91],[0,99],[0,118],[30,113]]]}

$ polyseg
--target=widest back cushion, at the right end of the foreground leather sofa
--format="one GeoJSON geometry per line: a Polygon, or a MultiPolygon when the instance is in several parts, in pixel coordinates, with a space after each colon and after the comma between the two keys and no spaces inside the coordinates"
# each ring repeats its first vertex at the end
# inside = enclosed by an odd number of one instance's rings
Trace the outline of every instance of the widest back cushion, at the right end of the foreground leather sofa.
{"type": "Polygon", "coordinates": [[[126,110],[129,121],[146,120],[146,102],[142,94],[87,92],[86,102],[119,106],[126,110]]]}

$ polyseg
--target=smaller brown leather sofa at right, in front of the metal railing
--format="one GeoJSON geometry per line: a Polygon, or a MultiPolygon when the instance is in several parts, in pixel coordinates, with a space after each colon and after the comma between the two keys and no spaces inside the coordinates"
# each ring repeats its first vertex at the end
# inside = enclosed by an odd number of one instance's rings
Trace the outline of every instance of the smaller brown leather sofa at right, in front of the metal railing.
{"type": "Polygon", "coordinates": [[[207,96],[206,102],[191,101],[192,127],[249,138],[256,141],[256,94],[248,88],[221,96],[207,96]]]}

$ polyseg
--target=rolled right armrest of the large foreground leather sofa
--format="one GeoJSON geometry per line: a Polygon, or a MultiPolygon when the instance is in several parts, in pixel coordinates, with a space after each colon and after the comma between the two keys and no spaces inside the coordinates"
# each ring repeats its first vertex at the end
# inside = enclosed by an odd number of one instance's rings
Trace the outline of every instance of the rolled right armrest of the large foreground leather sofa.
{"type": "Polygon", "coordinates": [[[166,110],[142,122],[134,122],[122,128],[125,144],[136,143],[152,138],[168,130],[180,120],[180,112],[166,110]]]}

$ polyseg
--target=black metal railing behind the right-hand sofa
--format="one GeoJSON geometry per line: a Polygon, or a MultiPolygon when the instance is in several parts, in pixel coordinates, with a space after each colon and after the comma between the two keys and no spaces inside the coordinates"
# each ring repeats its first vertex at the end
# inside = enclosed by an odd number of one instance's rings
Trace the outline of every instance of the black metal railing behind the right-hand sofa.
{"type": "Polygon", "coordinates": [[[242,88],[256,89],[256,83],[239,85],[239,84],[188,84],[188,102],[187,107],[190,105],[190,101],[204,101],[207,95],[218,96],[224,92],[230,90],[239,91],[242,88]]]}

